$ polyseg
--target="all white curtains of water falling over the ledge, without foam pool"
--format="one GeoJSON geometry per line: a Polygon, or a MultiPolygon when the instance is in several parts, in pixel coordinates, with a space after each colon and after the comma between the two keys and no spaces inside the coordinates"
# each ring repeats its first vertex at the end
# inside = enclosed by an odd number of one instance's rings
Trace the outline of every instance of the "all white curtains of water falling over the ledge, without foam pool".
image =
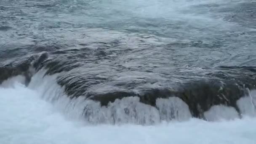
{"type": "MultiPolygon", "coordinates": [[[[187,121],[192,115],[184,101],[177,97],[157,99],[156,107],[139,102],[139,97],[126,97],[109,103],[107,107],[101,107],[99,102],[85,100],[84,96],[69,99],[64,93],[64,87],[56,83],[56,78],[61,75],[45,75],[45,70],[40,70],[31,79],[29,89],[35,90],[38,96],[50,102],[55,109],[72,120],[85,120],[87,123],[99,124],[124,124],[135,123],[151,125],[161,121],[187,121]]],[[[15,81],[22,82],[22,77],[17,76],[8,79],[2,86],[5,88],[15,81]]],[[[237,101],[242,116],[255,116],[253,105],[255,92],[250,96],[242,97],[237,101]]],[[[233,107],[216,105],[204,113],[209,121],[234,120],[239,117],[233,107]]]]}

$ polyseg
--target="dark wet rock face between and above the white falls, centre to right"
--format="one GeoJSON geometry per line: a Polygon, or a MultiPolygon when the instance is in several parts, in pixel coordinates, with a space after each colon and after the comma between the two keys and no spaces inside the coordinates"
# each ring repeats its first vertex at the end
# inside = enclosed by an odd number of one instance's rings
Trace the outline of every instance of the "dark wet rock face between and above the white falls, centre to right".
{"type": "Polygon", "coordinates": [[[115,91],[112,93],[91,94],[90,99],[100,101],[102,106],[107,106],[115,99],[122,99],[128,96],[138,96],[140,102],[156,107],[156,99],[176,96],[182,99],[190,109],[193,117],[204,119],[203,113],[214,105],[225,105],[237,107],[237,100],[243,96],[248,96],[248,89],[242,83],[235,81],[200,80],[185,83],[179,90],[170,88],[152,88],[141,93],[115,91]]]}

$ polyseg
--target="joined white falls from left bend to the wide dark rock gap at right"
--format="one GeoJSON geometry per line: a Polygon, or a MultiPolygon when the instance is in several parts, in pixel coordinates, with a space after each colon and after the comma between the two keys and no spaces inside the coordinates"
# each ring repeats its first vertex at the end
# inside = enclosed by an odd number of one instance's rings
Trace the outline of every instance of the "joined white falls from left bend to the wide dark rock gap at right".
{"type": "Polygon", "coordinates": [[[139,97],[116,99],[107,107],[101,107],[99,102],[85,100],[85,97],[69,99],[64,93],[64,87],[56,83],[61,74],[45,75],[40,70],[31,79],[28,88],[39,93],[39,96],[53,104],[70,119],[83,119],[88,123],[124,124],[136,123],[150,125],[163,120],[188,120],[191,117],[189,108],[179,98],[157,99],[156,109],[139,102],[139,97]],[[166,109],[166,112],[165,112],[166,109]]]}

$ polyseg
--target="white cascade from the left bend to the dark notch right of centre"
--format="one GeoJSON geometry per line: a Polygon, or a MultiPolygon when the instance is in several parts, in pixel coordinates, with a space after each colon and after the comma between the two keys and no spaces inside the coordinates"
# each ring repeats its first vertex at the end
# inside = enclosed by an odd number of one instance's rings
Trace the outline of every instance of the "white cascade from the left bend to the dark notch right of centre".
{"type": "Polygon", "coordinates": [[[157,109],[139,102],[138,97],[117,99],[109,103],[108,107],[101,107],[99,102],[85,100],[85,97],[69,99],[64,94],[64,88],[56,83],[58,75],[44,76],[45,71],[35,74],[28,88],[36,90],[40,97],[50,101],[71,119],[83,119],[88,123],[159,123],[160,117],[157,109]]]}

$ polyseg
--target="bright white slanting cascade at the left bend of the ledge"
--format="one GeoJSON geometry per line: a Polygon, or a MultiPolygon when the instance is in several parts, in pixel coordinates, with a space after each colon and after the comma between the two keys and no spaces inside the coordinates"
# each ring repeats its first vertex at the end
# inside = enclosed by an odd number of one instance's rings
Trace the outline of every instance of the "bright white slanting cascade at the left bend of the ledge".
{"type": "Polygon", "coordinates": [[[56,83],[61,73],[46,75],[42,69],[31,78],[28,88],[38,92],[41,99],[50,102],[56,109],[64,113],[69,119],[78,120],[82,117],[85,101],[83,96],[69,99],[64,93],[64,87],[56,83]]]}

